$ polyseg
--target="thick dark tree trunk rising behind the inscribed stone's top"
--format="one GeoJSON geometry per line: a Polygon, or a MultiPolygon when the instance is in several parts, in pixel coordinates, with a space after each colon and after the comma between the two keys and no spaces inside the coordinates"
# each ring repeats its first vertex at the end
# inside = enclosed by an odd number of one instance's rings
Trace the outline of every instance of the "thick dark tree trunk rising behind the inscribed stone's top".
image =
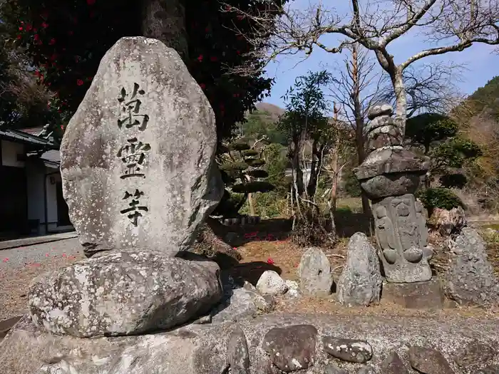
{"type": "Polygon", "coordinates": [[[142,31],[143,36],[163,41],[187,61],[184,0],[143,0],[142,31]]]}

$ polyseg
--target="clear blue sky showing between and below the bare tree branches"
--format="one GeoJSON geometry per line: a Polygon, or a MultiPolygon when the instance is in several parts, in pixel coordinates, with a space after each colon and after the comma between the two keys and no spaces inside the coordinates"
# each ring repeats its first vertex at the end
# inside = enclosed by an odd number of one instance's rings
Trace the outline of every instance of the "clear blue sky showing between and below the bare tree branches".
{"type": "MultiPolygon", "coordinates": [[[[310,0],[314,4],[314,0],[310,0]]],[[[345,4],[346,1],[341,3],[345,4]]],[[[298,6],[300,9],[304,9],[308,6],[309,0],[296,0],[293,6],[298,6]]],[[[348,3],[347,3],[348,4],[348,3]]],[[[336,11],[339,14],[346,14],[349,12],[348,6],[336,7],[336,11]]],[[[321,39],[323,43],[335,46],[337,44],[336,36],[327,36],[324,40],[321,39]]],[[[406,58],[412,56],[418,51],[422,51],[426,48],[431,48],[435,46],[434,44],[427,43],[426,40],[416,35],[416,33],[411,33],[406,36],[401,36],[396,41],[393,41],[389,45],[389,53],[391,53],[396,60],[396,63],[401,63],[406,60],[406,58]]],[[[421,63],[430,63],[433,61],[443,61],[446,63],[463,64],[465,70],[461,74],[461,80],[456,82],[456,85],[461,93],[470,94],[473,93],[479,87],[485,85],[494,76],[499,76],[499,56],[493,53],[493,47],[484,44],[476,44],[471,46],[462,52],[446,53],[441,56],[431,56],[422,59],[421,63]]],[[[373,55],[374,56],[374,55],[373,55]]],[[[284,102],[282,100],[282,95],[286,90],[294,83],[294,79],[298,76],[303,76],[307,71],[318,71],[321,70],[321,66],[327,64],[328,66],[334,66],[336,62],[341,63],[344,56],[334,55],[332,53],[326,53],[317,49],[309,56],[306,60],[303,60],[303,55],[299,56],[280,56],[276,62],[270,63],[267,67],[267,76],[275,78],[275,83],[271,90],[271,96],[266,98],[264,102],[272,103],[274,105],[279,105],[284,107],[284,102]],[[301,61],[301,62],[300,62],[301,61]]],[[[415,67],[417,67],[415,63],[415,67]]],[[[333,69],[329,69],[331,73],[334,74],[333,69]]]]}

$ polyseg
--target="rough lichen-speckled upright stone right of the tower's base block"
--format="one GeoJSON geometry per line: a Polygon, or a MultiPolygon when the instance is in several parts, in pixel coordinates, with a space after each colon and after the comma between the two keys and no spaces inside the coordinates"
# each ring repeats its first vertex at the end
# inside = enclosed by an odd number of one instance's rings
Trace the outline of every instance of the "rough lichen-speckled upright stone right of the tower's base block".
{"type": "Polygon", "coordinates": [[[456,241],[451,241],[450,249],[450,265],[444,276],[446,294],[461,305],[497,305],[499,281],[480,234],[465,227],[456,241]]]}

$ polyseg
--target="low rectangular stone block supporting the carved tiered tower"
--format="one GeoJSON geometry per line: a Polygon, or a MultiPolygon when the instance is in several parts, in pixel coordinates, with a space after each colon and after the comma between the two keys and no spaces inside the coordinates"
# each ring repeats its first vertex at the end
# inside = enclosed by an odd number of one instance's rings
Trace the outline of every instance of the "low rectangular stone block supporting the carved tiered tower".
{"type": "Polygon", "coordinates": [[[438,279],[426,282],[389,283],[383,282],[381,303],[396,303],[411,309],[442,309],[443,291],[438,279]]]}

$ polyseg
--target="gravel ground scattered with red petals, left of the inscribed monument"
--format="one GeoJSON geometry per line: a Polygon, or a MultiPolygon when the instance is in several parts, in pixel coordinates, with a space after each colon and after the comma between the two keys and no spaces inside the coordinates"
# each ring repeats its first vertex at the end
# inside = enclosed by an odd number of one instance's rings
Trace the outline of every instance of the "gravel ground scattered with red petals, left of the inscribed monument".
{"type": "Polygon", "coordinates": [[[34,277],[83,259],[78,238],[0,251],[0,321],[26,313],[34,277]]]}

